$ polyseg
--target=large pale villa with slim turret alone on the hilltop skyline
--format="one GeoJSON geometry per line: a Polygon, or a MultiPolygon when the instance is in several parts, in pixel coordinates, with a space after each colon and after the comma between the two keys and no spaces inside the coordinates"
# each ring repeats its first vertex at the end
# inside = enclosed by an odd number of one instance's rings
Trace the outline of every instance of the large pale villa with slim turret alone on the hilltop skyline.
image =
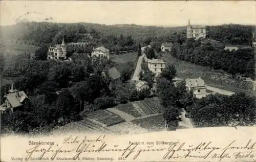
{"type": "Polygon", "coordinates": [[[190,25],[190,21],[187,23],[187,38],[205,38],[206,26],[204,25],[190,25]]]}

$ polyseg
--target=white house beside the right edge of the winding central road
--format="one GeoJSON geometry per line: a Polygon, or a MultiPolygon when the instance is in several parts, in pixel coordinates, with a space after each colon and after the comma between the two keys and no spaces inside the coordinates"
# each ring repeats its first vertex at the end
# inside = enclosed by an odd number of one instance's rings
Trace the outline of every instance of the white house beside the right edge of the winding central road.
{"type": "Polygon", "coordinates": [[[147,59],[147,64],[149,70],[153,72],[156,77],[162,73],[163,68],[165,68],[166,66],[166,62],[160,59],[147,59]]]}

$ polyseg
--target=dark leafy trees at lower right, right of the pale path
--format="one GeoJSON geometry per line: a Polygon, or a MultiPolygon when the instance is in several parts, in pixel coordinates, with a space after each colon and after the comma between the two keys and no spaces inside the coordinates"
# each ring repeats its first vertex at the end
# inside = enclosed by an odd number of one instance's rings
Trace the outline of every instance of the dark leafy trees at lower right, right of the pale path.
{"type": "Polygon", "coordinates": [[[255,124],[254,99],[245,94],[209,95],[188,106],[188,112],[198,127],[252,126],[255,124]]]}

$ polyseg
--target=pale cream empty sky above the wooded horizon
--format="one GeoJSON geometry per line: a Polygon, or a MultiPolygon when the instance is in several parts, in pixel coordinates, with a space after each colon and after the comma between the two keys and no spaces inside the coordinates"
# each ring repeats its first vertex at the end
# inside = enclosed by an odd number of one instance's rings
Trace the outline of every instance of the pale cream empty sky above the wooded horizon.
{"type": "Polygon", "coordinates": [[[150,26],[256,25],[256,1],[0,1],[0,25],[15,19],[150,26]],[[29,13],[26,15],[26,13],[29,13]]]}

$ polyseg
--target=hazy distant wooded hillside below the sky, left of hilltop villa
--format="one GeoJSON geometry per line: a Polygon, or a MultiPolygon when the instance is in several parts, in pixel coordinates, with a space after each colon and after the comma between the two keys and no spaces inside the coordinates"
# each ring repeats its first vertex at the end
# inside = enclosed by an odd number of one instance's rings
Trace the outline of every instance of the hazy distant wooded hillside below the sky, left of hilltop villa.
{"type": "Polygon", "coordinates": [[[20,22],[1,27],[1,35],[7,40],[38,45],[61,43],[64,36],[69,42],[90,42],[104,45],[111,51],[137,49],[138,43],[149,44],[153,40],[170,41],[173,33],[184,32],[184,28],[144,27],[137,25],[113,25],[50,22],[20,22]]]}

